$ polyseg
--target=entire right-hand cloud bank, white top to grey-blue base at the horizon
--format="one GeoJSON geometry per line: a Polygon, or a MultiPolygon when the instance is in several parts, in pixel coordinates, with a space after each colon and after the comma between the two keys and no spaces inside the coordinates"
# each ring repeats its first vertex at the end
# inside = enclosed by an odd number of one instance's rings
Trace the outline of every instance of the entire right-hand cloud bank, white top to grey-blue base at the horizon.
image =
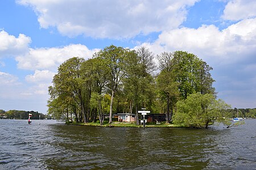
{"type": "Polygon", "coordinates": [[[196,54],[213,67],[218,96],[233,107],[256,104],[256,18],[244,19],[226,29],[215,25],[177,28],[162,32],[152,43],[144,43],[155,54],[183,50],[196,54]],[[244,97],[246,96],[246,97],[244,97]]]}

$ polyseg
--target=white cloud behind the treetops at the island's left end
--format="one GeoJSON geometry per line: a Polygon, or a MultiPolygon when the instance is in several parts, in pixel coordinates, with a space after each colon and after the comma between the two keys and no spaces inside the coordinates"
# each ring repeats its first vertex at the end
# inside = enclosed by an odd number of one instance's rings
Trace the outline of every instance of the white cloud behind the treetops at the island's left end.
{"type": "Polygon", "coordinates": [[[72,44],[61,48],[30,49],[30,52],[16,57],[19,69],[35,70],[26,76],[30,84],[24,96],[47,95],[48,87],[57,71],[57,67],[71,57],[91,58],[98,49],[89,50],[85,45],[72,44]]]}

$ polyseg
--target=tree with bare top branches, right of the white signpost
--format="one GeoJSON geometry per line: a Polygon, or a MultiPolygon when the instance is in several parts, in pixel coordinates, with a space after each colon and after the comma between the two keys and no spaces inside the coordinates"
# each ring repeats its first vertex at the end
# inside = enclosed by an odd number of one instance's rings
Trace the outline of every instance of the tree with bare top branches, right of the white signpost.
{"type": "Polygon", "coordinates": [[[167,101],[167,118],[169,124],[172,119],[172,113],[179,96],[178,83],[175,79],[175,63],[173,53],[163,52],[158,56],[160,74],[156,78],[158,94],[160,99],[167,101]],[[171,114],[170,114],[171,109],[171,114]]]}

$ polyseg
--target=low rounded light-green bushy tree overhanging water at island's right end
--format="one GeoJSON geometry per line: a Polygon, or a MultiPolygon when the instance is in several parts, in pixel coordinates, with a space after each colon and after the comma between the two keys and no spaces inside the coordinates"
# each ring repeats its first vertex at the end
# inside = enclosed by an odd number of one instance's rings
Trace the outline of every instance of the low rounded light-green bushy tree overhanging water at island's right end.
{"type": "Polygon", "coordinates": [[[207,128],[209,122],[219,121],[227,124],[225,118],[230,105],[216,100],[212,94],[191,94],[177,102],[174,122],[192,128],[207,128]]]}

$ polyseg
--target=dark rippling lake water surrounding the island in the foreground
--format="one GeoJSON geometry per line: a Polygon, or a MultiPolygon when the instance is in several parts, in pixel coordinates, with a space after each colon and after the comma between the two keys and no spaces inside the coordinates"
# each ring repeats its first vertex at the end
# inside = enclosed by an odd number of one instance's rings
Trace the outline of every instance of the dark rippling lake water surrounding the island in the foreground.
{"type": "Polygon", "coordinates": [[[256,169],[256,120],[229,129],[0,120],[0,130],[0,169],[256,169]]]}

